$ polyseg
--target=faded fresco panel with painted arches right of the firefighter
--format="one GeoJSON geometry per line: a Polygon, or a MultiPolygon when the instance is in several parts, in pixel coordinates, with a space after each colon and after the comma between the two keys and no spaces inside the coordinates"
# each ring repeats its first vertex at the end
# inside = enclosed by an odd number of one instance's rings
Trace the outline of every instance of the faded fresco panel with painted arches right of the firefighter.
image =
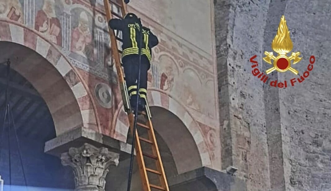
{"type": "MultiPolygon", "coordinates": [[[[202,71],[177,61],[165,52],[161,52],[155,65],[159,68],[159,84],[153,87],[174,95],[183,105],[211,118],[215,117],[214,82],[206,76],[200,77],[202,71]],[[178,67],[180,63],[181,67],[178,67]],[[205,79],[206,78],[206,79],[205,79]]],[[[155,73],[151,73],[151,75],[155,73]]],[[[149,78],[152,84],[155,76],[149,78]]]]}

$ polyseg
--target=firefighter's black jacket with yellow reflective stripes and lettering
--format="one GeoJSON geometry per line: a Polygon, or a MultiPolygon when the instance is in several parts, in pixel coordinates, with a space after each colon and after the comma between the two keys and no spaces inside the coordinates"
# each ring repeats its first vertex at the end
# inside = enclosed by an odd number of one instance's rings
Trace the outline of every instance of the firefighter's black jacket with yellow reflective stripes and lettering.
{"type": "MultiPolygon", "coordinates": [[[[122,59],[128,55],[139,55],[140,48],[140,30],[141,22],[139,19],[111,19],[109,27],[111,29],[122,31],[122,59]]],[[[143,27],[141,55],[146,56],[150,61],[152,58],[152,48],[156,46],[159,41],[158,38],[150,31],[150,29],[143,27]]]]}

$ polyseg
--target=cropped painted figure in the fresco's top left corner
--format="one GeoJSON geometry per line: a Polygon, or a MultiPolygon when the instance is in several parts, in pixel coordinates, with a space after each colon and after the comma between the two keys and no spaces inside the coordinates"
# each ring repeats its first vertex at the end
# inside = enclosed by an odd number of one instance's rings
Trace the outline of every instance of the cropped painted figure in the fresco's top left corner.
{"type": "Polygon", "coordinates": [[[0,0],[0,18],[23,23],[22,4],[19,0],[0,0]]]}

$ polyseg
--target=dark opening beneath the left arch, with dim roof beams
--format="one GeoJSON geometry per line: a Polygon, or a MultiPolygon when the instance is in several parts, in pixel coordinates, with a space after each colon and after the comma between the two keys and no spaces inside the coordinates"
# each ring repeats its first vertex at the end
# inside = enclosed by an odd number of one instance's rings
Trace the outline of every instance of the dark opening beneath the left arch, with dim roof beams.
{"type": "MultiPolygon", "coordinates": [[[[0,42],[0,44],[3,43],[0,42]]],[[[74,189],[74,176],[71,169],[63,166],[58,157],[44,152],[45,141],[56,137],[49,108],[34,87],[13,68],[10,69],[8,99],[11,106],[10,122],[13,123],[10,126],[3,123],[6,103],[6,83],[3,80],[6,79],[6,68],[7,66],[0,64],[0,139],[2,143],[0,166],[5,185],[8,186],[8,190],[10,190],[10,184],[11,190],[74,189]],[[17,133],[13,130],[14,128],[17,133]],[[11,129],[10,132],[9,129],[11,129]],[[11,145],[6,144],[8,141],[11,145]],[[16,157],[19,152],[21,152],[22,160],[16,157]],[[11,162],[9,162],[9,154],[11,162]],[[7,168],[9,164],[12,166],[11,169],[7,168]],[[8,181],[10,179],[11,181],[8,181]],[[25,183],[28,188],[23,186],[25,183]]],[[[7,190],[6,186],[5,190],[7,190]]]]}

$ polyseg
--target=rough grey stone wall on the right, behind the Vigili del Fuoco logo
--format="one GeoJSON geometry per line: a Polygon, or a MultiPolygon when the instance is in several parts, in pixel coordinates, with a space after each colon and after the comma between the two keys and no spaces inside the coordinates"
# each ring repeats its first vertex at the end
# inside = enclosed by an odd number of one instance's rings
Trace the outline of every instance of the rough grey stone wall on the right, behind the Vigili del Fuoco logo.
{"type": "Polygon", "coordinates": [[[330,52],[328,1],[217,0],[215,34],[220,98],[222,167],[234,165],[248,190],[330,190],[330,52]],[[272,72],[267,83],[253,76],[250,58],[259,70],[285,15],[294,52],[303,59],[293,66],[299,76],[309,57],[316,58],[304,82],[287,88],[291,72],[272,72]]]}

